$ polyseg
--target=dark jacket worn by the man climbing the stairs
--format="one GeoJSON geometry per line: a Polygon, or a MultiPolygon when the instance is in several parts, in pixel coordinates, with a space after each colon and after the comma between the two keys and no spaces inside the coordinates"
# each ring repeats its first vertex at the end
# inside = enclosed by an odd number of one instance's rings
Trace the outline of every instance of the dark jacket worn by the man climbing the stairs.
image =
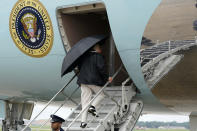
{"type": "Polygon", "coordinates": [[[88,52],[79,60],[79,75],[77,83],[103,86],[108,75],[105,68],[105,61],[101,54],[88,52]]]}

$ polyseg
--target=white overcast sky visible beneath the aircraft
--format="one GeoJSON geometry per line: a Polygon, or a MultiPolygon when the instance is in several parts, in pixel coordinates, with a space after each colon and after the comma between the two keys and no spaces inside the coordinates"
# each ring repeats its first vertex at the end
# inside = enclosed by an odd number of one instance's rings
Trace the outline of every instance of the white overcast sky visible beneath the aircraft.
{"type": "MultiPolygon", "coordinates": [[[[42,104],[36,104],[32,118],[34,118],[40,110],[44,108],[42,104]]],[[[48,107],[37,119],[48,119],[50,114],[53,114],[58,107],[50,106],[48,107]]],[[[71,112],[71,108],[62,108],[56,114],[62,118],[66,118],[71,112]]],[[[140,121],[162,121],[162,122],[188,122],[188,116],[178,116],[178,115],[143,115],[139,119],[140,121]]]]}

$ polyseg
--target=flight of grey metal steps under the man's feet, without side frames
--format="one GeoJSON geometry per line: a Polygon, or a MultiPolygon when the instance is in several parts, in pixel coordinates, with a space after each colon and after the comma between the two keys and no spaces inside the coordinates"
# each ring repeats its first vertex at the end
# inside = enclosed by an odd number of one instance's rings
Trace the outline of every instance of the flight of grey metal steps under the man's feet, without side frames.
{"type": "MultiPolygon", "coordinates": [[[[128,88],[131,88],[130,86],[128,86],[128,88]]],[[[125,91],[128,92],[129,89],[127,87],[125,88],[125,91]]],[[[114,100],[116,100],[117,102],[120,102],[122,99],[122,87],[121,86],[117,86],[117,87],[107,87],[105,89],[105,92],[114,100]]],[[[94,97],[95,95],[93,95],[94,97]]],[[[72,124],[72,126],[69,128],[68,131],[99,131],[99,130],[103,130],[103,126],[105,128],[109,128],[107,125],[107,121],[106,119],[109,121],[110,120],[114,120],[114,116],[113,116],[113,112],[117,111],[117,105],[116,103],[111,100],[111,98],[109,98],[108,96],[106,96],[101,103],[99,104],[100,106],[96,108],[99,117],[94,117],[92,116],[90,113],[88,113],[88,117],[87,117],[87,127],[88,128],[80,128],[81,125],[81,116],[72,124]],[[103,123],[104,122],[104,123],[103,123]],[[101,124],[103,123],[103,124],[101,124]]],[[[63,123],[63,127],[68,127],[69,124],[76,118],[76,116],[79,115],[79,113],[81,112],[82,107],[79,106],[75,111],[73,111],[73,113],[69,116],[69,118],[66,120],[65,123],[63,123]]]]}

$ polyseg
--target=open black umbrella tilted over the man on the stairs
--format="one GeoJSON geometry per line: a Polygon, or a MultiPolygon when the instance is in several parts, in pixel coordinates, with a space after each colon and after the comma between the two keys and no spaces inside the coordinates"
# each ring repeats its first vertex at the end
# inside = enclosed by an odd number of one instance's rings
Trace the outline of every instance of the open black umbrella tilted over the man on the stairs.
{"type": "Polygon", "coordinates": [[[61,76],[71,72],[78,64],[79,58],[95,44],[106,39],[105,35],[95,35],[81,39],[67,53],[62,64],[61,76]]]}

